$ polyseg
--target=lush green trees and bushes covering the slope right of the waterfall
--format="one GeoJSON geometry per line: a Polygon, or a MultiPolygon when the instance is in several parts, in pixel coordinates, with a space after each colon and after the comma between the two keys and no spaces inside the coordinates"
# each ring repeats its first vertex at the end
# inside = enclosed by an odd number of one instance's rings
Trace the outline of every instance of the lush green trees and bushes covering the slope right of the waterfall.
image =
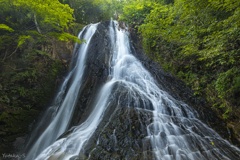
{"type": "Polygon", "coordinates": [[[121,21],[146,53],[207,98],[224,119],[240,115],[240,1],[130,0],[121,21]]]}

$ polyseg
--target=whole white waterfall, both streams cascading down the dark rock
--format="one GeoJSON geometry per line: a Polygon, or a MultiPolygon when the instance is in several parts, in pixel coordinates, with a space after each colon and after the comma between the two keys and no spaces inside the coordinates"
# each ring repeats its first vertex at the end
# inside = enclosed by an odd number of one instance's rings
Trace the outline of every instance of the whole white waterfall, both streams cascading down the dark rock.
{"type": "MultiPolygon", "coordinates": [[[[152,116],[146,126],[147,134],[145,137],[141,138],[144,156],[142,158],[144,159],[240,159],[239,149],[232,146],[226,140],[223,140],[215,131],[198,120],[198,113],[194,109],[181,101],[175,100],[167,92],[161,89],[161,86],[143,67],[141,62],[132,55],[128,33],[124,30],[117,29],[117,27],[115,27],[117,25],[115,21],[111,21],[110,23],[109,39],[111,41],[112,55],[109,56],[111,58],[109,58],[109,62],[107,62],[109,66],[109,76],[106,83],[101,87],[99,93],[95,97],[96,103],[92,112],[83,123],[73,127],[70,134],[51,144],[67,129],[67,124],[72,114],[71,112],[76,103],[77,91],[80,88],[81,77],[84,70],[84,57],[86,56],[85,54],[87,54],[87,47],[82,46],[82,55],[78,60],[80,63],[77,62],[76,67],[69,74],[69,76],[74,76],[73,82],[66,93],[59,111],[52,121],[53,124],[58,123],[58,127],[63,129],[61,129],[61,133],[58,132],[57,134],[55,133],[55,129],[60,130],[59,128],[52,128],[51,131],[50,128],[45,130],[54,134],[54,138],[52,138],[53,140],[48,142],[47,145],[44,145],[46,149],[44,151],[41,149],[40,151],[42,152],[36,159],[79,159],[80,153],[84,152],[83,150],[86,148],[96,130],[98,130],[104,116],[107,116],[105,112],[111,106],[115,106],[115,108],[110,115],[116,114],[119,107],[124,106],[136,110],[137,113],[139,113],[139,121],[143,121],[143,118],[141,119],[142,115],[140,114],[142,111],[147,111],[150,113],[149,115],[152,116]],[[69,93],[72,91],[71,88],[74,89],[74,92],[69,93]],[[117,97],[114,97],[114,95],[117,95],[117,97]],[[62,107],[65,103],[68,103],[69,106],[73,106],[72,108],[68,108],[67,111],[64,111],[69,115],[68,118],[65,118],[61,115],[63,113],[60,112],[61,108],[66,108],[62,107]],[[64,127],[62,127],[62,125],[64,127]],[[153,153],[153,157],[149,157],[145,150],[150,150],[153,153]]],[[[96,27],[97,25],[91,25],[88,29],[86,28],[87,31],[84,39],[90,41],[96,27]]],[[[66,80],[68,80],[68,78],[66,78],[66,80]]],[[[65,81],[64,83],[67,82],[65,81]]],[[[109,121],[111,121],[112,117],[109,118],[109,121]]],[[[49,126],[51,126],[52,123],[50,123],[49,126]]],[[[105,130],[107,125],[101,130],[105,130]]],[[[112,130],[110,132],[112,135],[110,137],[113,137],[113,146],[116,147],[116,145],[120,144],[121,138],[119,138],[116,126],[111,128],[112,130]]],[[[134,129],[134,126],[131,127],[130,130],[131,129],[134,129]]],[[[45,132],[42,134],[43,137],[44,133],[45,132]]],[[[41,137],[42,136],[36,141],[37,145],[48,141],[48,139],[43,139],[41,137]]],[[[101,140],[98,139],[95,147],[92,147],[91,151],[88,152],[88,159],[92,158],[100,143],[101,140]]],[[[117,154],[115,154],[115,152],[118,152],[117,149],[112,149],[113,151],[111,149],[107,150],[108,152],[113,152],[112,155],[116,157],[117,154]]],[[[130,147],[127,150],[133,149],[130,147]]],[[[36,151],[34,153],[36,153],[36,151]]],[[[34,157],[32,154],[32,152],[29,152],[29,155],[34,157]]],[[[105,152],[105,154],[107,153],[105,152]]],[[[121,159],[123,158],[125,157],[121,159]]],[[[87,157],[85,157],[85,159],[87,159],[87,157]]]]}

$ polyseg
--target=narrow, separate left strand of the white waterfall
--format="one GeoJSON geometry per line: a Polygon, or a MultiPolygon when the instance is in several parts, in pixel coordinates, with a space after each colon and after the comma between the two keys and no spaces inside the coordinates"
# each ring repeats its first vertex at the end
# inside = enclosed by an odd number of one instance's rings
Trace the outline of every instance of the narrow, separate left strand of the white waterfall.
{"type": "MultiPolygon", "coordinates": [[[[82,75],[84,73],[85,68],[85,57],[88,50],[88,44],[90,43],[91,37],[95,33],[97,28],[97,24],[93,24],[83,29],[87,29],[84,39],[87,39],[87,43],[82,43],[78,50],[78,59],[76,62],[76,66],[69,73],[67,78],[65,79],[62,90],[58,93],[56,97],[54,107],[53,117],[48,126],[43,130],[41,135],[37,138],[34,144],[31,146],[31,149],[28,151],[25,160],[34,159],[39,153],[41,153],[46,147],[52,144],[62,133],[64,133],[68,127],[69,121],[71,119],[72,112],[76,105],[78,92],[80,90],[82,75]],[[69,79],[72,78],[71,85],[66,92],[66,96],[61,101],[63,97],[63,92],[65,92],[66,85],[69,79]],[[61,104],[59,102],[61,101],[61,104]]],[[[79,37],[83,33],[83,31],[79,34],[79,37]]],[[[50,107],[51,108],[51,107],[50,107]]],[[[40,124],[44,124],[45,119],[40,122],[40,124]]],[[[41,127],[41,125],[40,125],[41,127]]]]}

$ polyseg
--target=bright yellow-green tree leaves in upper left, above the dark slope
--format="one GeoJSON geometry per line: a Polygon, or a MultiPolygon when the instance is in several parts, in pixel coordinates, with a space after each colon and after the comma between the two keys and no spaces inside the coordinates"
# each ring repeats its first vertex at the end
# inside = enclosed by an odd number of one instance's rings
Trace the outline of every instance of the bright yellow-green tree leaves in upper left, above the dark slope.
{"type": "Polygon", "coordinates": [[[73,9],[58,0],[0,0],[0,58],[5,61],[15,55],[26,42],[52,37],[60,41],[76,37],[65,31],[74,23],[73,9]],[[7,31],[7,32],[6,32],[7,31]]]}

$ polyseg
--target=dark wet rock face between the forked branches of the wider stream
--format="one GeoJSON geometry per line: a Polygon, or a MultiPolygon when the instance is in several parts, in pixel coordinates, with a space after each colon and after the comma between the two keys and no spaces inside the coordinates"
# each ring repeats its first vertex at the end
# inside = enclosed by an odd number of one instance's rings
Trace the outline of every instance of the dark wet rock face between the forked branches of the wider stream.
{"type": "Polygon", "coordinates": [[[95,139],[98,137],[96,146],[90,152],[84,150],[85,154],[92,160],[154,159],[151,142],[144,138],[151,117],[152,113],[146,110],[118,106],[110,119],[103,119],[93,135],[95,139]]]}

